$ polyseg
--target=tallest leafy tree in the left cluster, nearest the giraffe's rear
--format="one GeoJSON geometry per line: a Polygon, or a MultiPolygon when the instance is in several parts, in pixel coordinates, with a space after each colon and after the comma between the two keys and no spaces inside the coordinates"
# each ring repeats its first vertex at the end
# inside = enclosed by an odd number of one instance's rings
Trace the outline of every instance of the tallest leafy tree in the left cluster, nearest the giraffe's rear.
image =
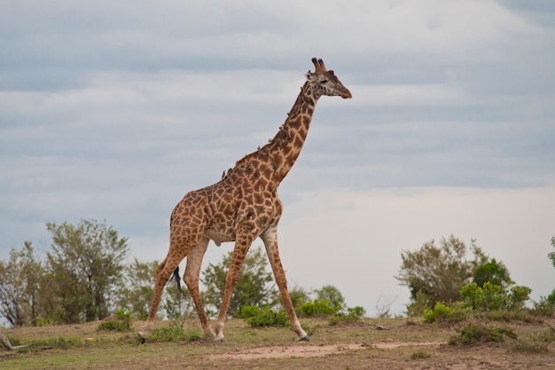
{"type": "Polygon", "coordinates": [[[48,223],[46,229],[53,241],[47,254],[52,316],[64,323],[105,319],[123,272],[127,238],[95,220],[48,223]]]}

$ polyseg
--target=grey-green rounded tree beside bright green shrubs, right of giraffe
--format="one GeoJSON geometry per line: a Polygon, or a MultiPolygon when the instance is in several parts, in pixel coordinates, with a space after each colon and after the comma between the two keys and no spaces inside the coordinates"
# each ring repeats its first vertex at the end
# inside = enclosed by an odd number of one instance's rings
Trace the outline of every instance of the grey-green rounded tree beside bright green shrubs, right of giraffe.
{"type": "Polygon", "coordinates": [[[403,263],[395,279],[410,289],[410,315],[432,309],[437,302],[459,301],[461,287],[469,283],[477,267],[488,260],[475,240],[471,240],[467,248],[453,235],[449,239],[442,238],[439,247],[432,240],[417,251],[403,251],[401,258],[403,263]],[[473,254],[471,260],[466,258],[468,251],[473,254]]]}

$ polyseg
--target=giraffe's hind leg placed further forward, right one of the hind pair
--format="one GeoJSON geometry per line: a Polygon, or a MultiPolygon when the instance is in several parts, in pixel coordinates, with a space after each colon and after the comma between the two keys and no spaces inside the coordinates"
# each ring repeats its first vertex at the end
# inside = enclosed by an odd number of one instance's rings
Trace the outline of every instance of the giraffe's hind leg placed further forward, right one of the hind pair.
{"type": "Polygon", "coordinates": [[[187,256],[187,266],[185,267],[183,279],[191,294],[192,302],[195,303],[195,309],[197,310],[197,315],[199,315],[200,326],[204,331],[204,335],[207,338],[214,339],[215,333],[212,327],[210,327],[207,312],[204,310],[204,304],[199,292],[200,267],[209,241],[207,238],[202,238],[199,244],[192,248],[191,253],[187,256]]]}

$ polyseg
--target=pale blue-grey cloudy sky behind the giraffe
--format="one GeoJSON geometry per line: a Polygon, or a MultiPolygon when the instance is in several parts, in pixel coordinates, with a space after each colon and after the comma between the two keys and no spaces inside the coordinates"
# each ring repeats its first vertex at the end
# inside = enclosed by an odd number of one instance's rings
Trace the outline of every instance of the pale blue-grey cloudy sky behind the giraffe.
{"type": "Polygon", "coordinates": [[[553,45],[548,0],[3,1],[0,258],[94,218],[163,259],[176,202],[275,134],[318,57],[353,98],[318,102],[279,188],[290,285],[401,313],[401,252],[454,234],[548,295],[553,45]]]}

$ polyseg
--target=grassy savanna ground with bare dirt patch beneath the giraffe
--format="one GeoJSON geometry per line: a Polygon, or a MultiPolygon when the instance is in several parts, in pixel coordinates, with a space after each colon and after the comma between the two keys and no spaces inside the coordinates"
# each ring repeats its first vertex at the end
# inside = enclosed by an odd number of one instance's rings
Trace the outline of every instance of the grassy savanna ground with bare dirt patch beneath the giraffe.
{"type": "MultiPolygon", "coordinates": [[[[1,369],[553,369],[555,319],[534,323],[484,321],[510,329],[516,339],[473,345],[448,344],[457,329],[408,319],[362,319],[330,326],[304,319],[311,342],[295,342],[286,327],[249,327],[241,319],[226,324],[226,342],[204,339],[146,342],[137,339],[142,322],[128,333],[98,330],[98,323],[60,327],[0,328],[20,350],[0,349],[1,369]],[[379,330],[377,326],[387,327],[379,330]],[[545,338],[551,338],[546,340],[545,338]],[[46,344],[44,344],[46,343],[46,344]],[[48,343],[55,343],[49,345],[48,343]],[[43,345],[44,344],[44,345],[43,345]]],[[[159,322],[158,326],[167,326],[159,322]]],[[[190,319],[185,330],[199,333],[190,319]]]]}

